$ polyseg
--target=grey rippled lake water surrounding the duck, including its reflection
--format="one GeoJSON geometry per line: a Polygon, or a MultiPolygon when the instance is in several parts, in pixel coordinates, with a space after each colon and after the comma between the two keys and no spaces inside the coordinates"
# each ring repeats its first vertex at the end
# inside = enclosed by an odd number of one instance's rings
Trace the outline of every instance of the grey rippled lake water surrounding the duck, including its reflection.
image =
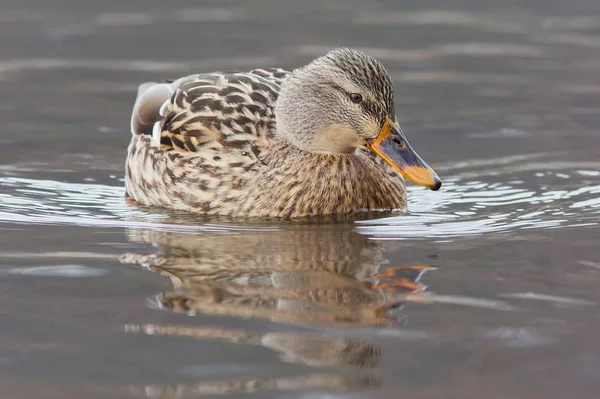
{"type": "Polygon", "coordinates": [[[598,397],[597,0],[0,8],[3,397],[598,397]],[[125,203],[140,82],[336,46],[390,70],[441,191],[320,223],[125,203]]]}

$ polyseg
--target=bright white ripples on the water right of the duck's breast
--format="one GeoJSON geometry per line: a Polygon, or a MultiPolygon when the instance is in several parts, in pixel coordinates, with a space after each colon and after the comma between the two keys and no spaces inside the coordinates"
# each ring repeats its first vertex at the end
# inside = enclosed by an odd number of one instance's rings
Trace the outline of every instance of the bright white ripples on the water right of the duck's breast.
{"type": "Polygon", "coordinates": [[[451,179],[439,192],[411,186],[407,215],[359,221],[357,228],[379,239],[414,239],[598,225],[600,179],[595,171],[566,174],[570,180],[562,175],[531,172],[510,183],[451,179]],[[586,181],[585,187],[575,188],[560,184],[560,180],[573,184],[576,176],[595,178],[595,184],[586,181]]]}

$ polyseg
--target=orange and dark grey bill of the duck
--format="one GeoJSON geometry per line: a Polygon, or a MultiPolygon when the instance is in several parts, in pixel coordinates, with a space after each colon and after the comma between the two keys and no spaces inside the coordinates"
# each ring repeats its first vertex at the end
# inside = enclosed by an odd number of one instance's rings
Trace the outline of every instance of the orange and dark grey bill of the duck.
{"type": "Polygon", "coordinates": [[[415,184],[439,190],[442,181],[410,146],[404,133],[388,119],[367,147],[415,184]]]}

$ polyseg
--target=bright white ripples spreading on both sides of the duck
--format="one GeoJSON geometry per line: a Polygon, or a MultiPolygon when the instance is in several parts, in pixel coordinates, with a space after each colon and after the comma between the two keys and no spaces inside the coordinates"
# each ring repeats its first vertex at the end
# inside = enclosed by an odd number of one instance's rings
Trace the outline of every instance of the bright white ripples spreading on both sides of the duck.
{"type": "MultiPolygon", "coordinates": [[[[525,167],[517,176],[511,171],[510,180],[483,170],[483,181],[461,170],[464,166],[457,165],[460,173],[455,176],[460,177],[446,179],[441,191],[411,185],[408,214],[358,221],[357,230],[379,239],[448,239],[600,223],[600,173],[596,170],[563,167],[554,172],[525,167]]],[[[211,232],[280,228],[277,223],[255,227],[207,223],[191,216],[173,219],[160,210],[127,205],[123,187],[116,186],[2,177],[0,189],[0,220],[12,223],[211,232]]]]}

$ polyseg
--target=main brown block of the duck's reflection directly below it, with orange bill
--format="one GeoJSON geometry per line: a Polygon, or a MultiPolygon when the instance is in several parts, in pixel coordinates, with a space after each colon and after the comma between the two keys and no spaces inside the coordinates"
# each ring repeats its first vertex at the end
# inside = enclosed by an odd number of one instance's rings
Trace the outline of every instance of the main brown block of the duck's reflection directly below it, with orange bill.
{"type": "Polygon", "coordinates": [[[386,325],[398,301],[381,288],[418,291],[414,280],[426,268],[407,267],[400,277],[377,274],[385,262],[379,246],[347,228],[128,234],[133,241],[164,248],[149,255],[124,254],[121,261],[168,276],[174,290],[158,301],[175,311],[287,323],[386,325]],[[382,283],[382,278],[392,280],[382,283]]]}

